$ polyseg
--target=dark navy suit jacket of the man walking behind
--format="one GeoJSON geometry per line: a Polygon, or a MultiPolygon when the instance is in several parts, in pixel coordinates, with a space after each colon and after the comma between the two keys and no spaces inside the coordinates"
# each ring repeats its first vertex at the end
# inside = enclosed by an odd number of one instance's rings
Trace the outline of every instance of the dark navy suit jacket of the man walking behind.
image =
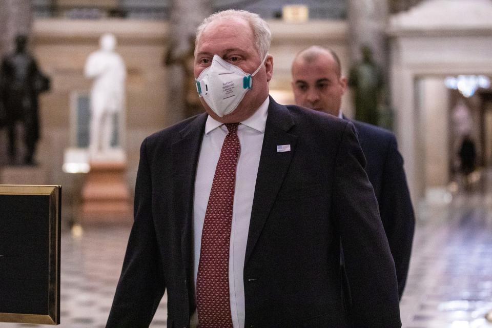
{"type": "Polygon", "coordinates": [[[378,199],[379,212],[398,278],[398,294],[405,288],[412,251],[415,217],[408,192],[403,158],[395,135],[380,127],[350,120],[366,158],[365,172],[378,199]]]}

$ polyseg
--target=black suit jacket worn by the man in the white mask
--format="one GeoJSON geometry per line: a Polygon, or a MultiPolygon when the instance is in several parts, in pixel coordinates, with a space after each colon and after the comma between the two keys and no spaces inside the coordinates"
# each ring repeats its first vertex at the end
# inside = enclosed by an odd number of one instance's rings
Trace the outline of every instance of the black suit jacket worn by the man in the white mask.
{"type": "MultiPolygon", "coordinates": [[[[166,290],[168,327],[189,325],[193,194],[206,119],[142,143],[135,219],[107,328],[148,327],[166,290]]],[[[394,262],[364,165],[350,122],[270,99],[244,262],[245,327],[401,326],[394,262]],[[279,153],[278,145],[291,151],[279,153]]]]}

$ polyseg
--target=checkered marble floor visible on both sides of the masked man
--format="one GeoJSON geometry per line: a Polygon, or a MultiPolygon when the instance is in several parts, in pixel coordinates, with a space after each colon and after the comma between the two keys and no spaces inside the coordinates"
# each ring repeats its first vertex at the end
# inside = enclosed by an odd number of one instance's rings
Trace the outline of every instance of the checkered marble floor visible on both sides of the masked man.
{"type": "MultiPolygon", "coordinates": [[[[484,181],[448,203],[416,209],[414,250],[400,304],[404,328],[492,328],[484,317],[492,310],[492,193],[486,188],[492,179],[484,181]]],[[[129,230],[63,233],[59,327],[105,326],[129,230]]],[[[166,312],[164,298],[151,327],[165,327],[166,312]]],[[[0,328],[33,326],[0,323],[0,328]]]]}

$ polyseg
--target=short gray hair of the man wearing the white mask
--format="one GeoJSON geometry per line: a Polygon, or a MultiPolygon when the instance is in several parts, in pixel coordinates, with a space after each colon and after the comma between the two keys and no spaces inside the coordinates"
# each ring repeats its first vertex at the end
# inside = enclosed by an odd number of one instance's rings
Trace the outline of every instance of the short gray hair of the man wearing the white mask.
{"type": "Polygon", "coordinates": [[[196,29],[195,49],[198,45],[198,40],[201,37],[203,30],[214,20],[224,18],[242,18],[248,22],[253,30],[255,37],[255,47],[261,58],[264,58],[270,50],[270,43],[272,40],[272,32],[267,22],[265,22],[258,14],[245,11],[245,10],[223,10],[216,12],[207,18],[203,19],[203,22],[196,29]]]}

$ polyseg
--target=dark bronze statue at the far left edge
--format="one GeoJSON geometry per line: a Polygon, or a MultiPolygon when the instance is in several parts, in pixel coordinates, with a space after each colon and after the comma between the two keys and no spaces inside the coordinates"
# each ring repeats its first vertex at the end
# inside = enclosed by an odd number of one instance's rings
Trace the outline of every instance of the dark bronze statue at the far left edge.
{"type": "Polygon", "coordinates": [[[39,139],[38,95],[50,89],[50,80],[37,68],[36,60],[27,49],[27,37],[15,38],[16,49],[2,60],[0,68],[0,99],[5,111],[4,124],[8,129],[9,160],[16,163],[16,123],[24,126],[26,153],[23,163],[34,164],[39,139]]]}

